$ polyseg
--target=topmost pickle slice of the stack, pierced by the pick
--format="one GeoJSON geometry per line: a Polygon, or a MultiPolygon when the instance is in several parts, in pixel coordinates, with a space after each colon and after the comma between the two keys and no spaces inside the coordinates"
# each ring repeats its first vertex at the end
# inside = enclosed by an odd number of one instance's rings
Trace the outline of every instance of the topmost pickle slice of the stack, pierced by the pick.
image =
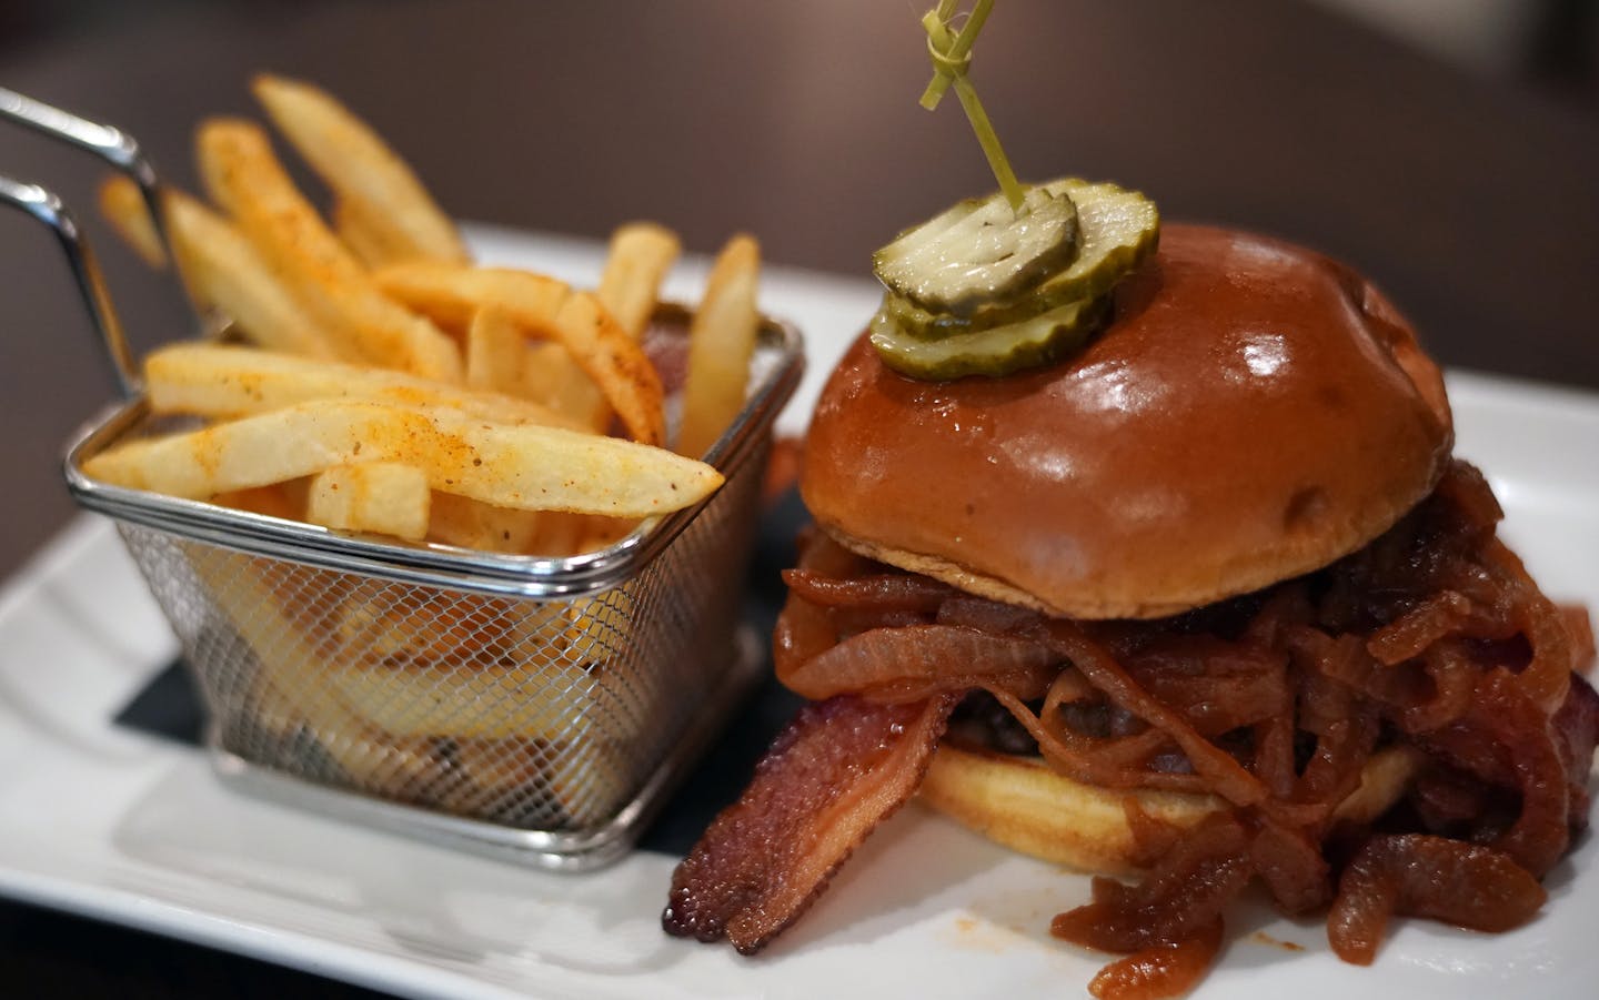
{"type": "Polygon", "coordinates": [[[900,233],[871,256],[871,265],[894,296],[932,313],[964,315],[1025,296],[1076,252],[1071,198],[1033,187],[1020,211],[998,192],[961,201],[900,233]]]}

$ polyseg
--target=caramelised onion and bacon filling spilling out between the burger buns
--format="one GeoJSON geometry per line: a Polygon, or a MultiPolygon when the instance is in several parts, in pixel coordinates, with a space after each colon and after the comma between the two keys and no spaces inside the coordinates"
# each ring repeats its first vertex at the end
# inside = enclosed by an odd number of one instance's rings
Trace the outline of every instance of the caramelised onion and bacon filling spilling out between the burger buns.
{"type": "Polygon", "coordinates": [[[1230,805],[1190,831],[1129,815],[1146,879],[1097,880],[1089,906],[1055,919],[1062,938],[1132,954],[1105,995],[1151,962],[1201,974],[1254,880],[1287,912],[1330,904],[1351,962],[1370,960],[1394,912],[1514,927],[1586,826],[1599,696],[1572,673],[1593,657],[1586,618],[1537,589],[1495,537],[1500,516],[1455,462],[1358,553],[1140,621],[1046,618],[814,537],[788,573],[776,658],[820,704],[678,869],[665,925],[764,944],[908,797],[897,789],[964,700],[956,727],[1078,781],[1230,805]],[[1396,743],[1423,759],[1399,807],[1335,831],[1366,760],[1396,743]]]}

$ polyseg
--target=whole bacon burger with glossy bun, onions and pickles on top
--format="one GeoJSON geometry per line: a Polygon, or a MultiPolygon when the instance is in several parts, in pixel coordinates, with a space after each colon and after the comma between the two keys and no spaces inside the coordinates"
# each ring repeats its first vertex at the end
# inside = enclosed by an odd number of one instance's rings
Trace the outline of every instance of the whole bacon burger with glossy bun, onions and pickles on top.
{"type": "Polygon", "coordinates": [[[879,256],[774,636],[809,704],[678,867],[670,933],[761,949],[918,792],[1122,875],[1052,922],[1127,955],[1100,997],[1188,989],[1250,885],[1358,963],[1396,914],[1541,907],[1586,826],[1593,633],[1498,540],[1439,369],[1348,267],[1153,212],[1107,241],[1132,203],[1107,224],[1091,187],[1035,188],[1076,201],[1073,252],[972,251],[972,204],[879,256]]]}

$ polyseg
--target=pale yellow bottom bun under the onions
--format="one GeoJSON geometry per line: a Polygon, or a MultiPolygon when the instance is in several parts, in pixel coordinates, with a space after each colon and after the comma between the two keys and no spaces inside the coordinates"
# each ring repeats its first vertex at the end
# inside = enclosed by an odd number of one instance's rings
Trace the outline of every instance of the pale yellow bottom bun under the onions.
{"type": "MultiPolygon", "coordinates": [[[[1415,756],[1390,748],[1372,756],[1361,786],[1334,812],[1340,821],[1370,823],[1388,810],[1415,773],[1415,756]]],[[[932,756],[921,800],[996,843],[1087,872],[1130,874],[1137,855],[1127,799],[1150,816],[1190,827],[1226,808],[1217,796],[1118,791],[1081,784],[1039,757],[1017,757],[945,740],[932,756]]]]}

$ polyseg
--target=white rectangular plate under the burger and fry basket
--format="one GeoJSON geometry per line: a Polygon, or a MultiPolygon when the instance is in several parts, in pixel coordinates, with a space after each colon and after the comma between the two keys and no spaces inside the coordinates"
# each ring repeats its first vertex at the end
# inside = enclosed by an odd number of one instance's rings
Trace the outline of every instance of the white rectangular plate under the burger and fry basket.
{"type": "MultiPolygon", "coordinates": [[[[486,227],[473,238],[486,259],[585,283],[603,252],[486,227]]],[[[702,276],[688,262],[668,292],[692,300],[702,276]]],[[[768,310],[809,340],[784,431],[803,431],[876,297],[865,281],[766,275],[768,310]]],[[[1450,390],[1458,450],[1490,473],[1511,543],[1548,593],[1599,609],[1599,396],[1469,374],[1450,390]]],[[[0,589],[0,893],[403,995],[1070,997],[1103,962],[1047,933],[1086,901],[1087,879],[915,807],[752,960],[660,931],[672,858],[544,874],[240,797],[198,751],[109,722],[174,652],[106,522],[78,521],[0,589]]],[[[1318,920],[1244,909],[1193,995],[1591,997],[1596,863],[1589,837],[1548,879],[1530,927],[1402,922],[1372,968],[1337,962],[1318,920]]]]}

